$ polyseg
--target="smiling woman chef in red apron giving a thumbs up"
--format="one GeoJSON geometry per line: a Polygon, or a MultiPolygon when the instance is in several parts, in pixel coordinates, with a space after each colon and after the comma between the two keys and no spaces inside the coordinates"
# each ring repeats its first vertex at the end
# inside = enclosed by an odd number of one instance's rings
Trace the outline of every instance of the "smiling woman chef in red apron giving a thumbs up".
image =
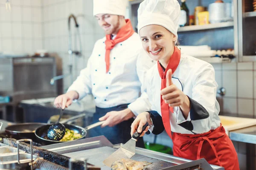
{"type": "Polygon", "coordinates": [[[144,0],[140,4],[138,30],[143,48],[158,62],[145,78],[153,111],[137,116],[131,134],[137,128],[140,132],[148,121],[154,125],[152,133],[166,130],[175,156],[205,158],[225,170],[239,170],[236,150],[218,117],[218,85],[212,65],[175,46],[179,16],[177,0],[144,0]]]}

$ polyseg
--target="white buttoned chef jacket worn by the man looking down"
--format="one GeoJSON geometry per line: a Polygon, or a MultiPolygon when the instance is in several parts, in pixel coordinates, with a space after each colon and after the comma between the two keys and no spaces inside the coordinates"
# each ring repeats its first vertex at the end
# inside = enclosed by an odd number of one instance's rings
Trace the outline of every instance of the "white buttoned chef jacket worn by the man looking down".
{"type": "Polygon", "coordinates": [[[144,91],[141,84],[146,71],[155,62],[143,52],[139,35],[134,33],[111,49],[108,73],[105,63],[105,40],[106,37],[95,43],[87,67],[81,70],[68,91],[78,92],[79,99],[92,94],[96,106],[100,108],[129,104],[128,108],[135,115],[150,109],[146,93],[141,93],[144,91]]]}

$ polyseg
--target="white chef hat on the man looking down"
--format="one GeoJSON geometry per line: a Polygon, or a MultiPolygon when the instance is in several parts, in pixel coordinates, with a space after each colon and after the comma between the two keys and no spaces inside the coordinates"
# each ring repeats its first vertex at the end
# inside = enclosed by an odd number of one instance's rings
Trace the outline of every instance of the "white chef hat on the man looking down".
{"type": "Polygon", "coordinates": [[[113,14],[125,16],[127,0],[93,0],[93,16],[113,14]]]}

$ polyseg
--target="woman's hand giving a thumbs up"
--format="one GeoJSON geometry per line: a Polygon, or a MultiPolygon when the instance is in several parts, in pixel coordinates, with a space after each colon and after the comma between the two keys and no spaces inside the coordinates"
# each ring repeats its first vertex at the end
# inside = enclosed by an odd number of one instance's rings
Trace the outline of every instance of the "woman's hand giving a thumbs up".
{"type": "Polygon", "coordinates": [[[182,106],[189,101],[188,97],[172,82],[172,69],[166,73],[166,88],[161,90],[161,95],[166,104],[170,107],[182,106]]]}

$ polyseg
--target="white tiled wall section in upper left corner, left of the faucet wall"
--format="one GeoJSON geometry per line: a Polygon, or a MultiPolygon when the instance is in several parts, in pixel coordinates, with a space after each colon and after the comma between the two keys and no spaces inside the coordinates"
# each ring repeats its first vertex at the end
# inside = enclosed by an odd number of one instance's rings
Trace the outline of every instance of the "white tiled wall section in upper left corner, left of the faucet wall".
{"type": "Polygon", "coordinates": [[[41,0],[0,0],[0,52],[29,53],[42,49],[41,0]]]}

